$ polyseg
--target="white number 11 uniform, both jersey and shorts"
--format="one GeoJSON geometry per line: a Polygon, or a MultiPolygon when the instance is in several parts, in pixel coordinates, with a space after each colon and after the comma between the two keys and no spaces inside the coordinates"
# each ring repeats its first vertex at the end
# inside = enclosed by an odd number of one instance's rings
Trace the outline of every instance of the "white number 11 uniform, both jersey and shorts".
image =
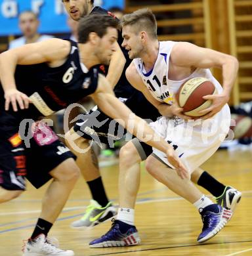
{"type": "MultiPolygon", "coordinates": [[[[138,74],[154,98],[160,102],[172,104],[173,95],[177,93],[180,85],[193,77],[209,79],[217,88],[218,93],[221,93],[222,87],[209,69],[197,68],[192,74],[180,81],[169,79],[169,58],[175,44],[176,42],[173,41],[159,42],[158,58],[150,72],[146,72],[140,58],[133,60],[138,74]]],[[[177,117],[161,117],[150,125],[173,146],[182,163],[192,173],[214,154],[226,137],[230,125],[230,110],[226,104],[220,112],[207,120],[187,121],[177,119],[177,117]]],[[[163,152],[156,148],[153,148],[153,152],[164,163],[172,167],[163,152]]]]}

